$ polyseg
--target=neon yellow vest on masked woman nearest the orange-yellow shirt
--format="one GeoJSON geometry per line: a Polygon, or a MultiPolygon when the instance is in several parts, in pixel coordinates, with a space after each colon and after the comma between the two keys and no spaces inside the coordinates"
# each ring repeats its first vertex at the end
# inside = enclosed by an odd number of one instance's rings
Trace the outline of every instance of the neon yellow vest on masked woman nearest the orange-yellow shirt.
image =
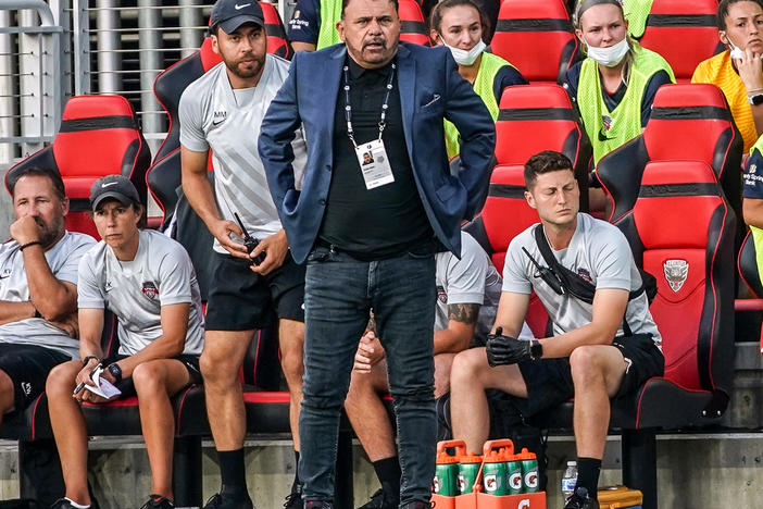
{"type": "Polygon", "coordinates": [[[628,88],[614,111],[609,111],[601,90],[599,64],[588,58],[583,61],[577,87],[577,107],[583,125],[593,147],[593,162],[641,134],[641,99],[649,79],[665,71],[675,83],[668,63],[654,51],[635,46],[628,88]],[[601,138],[604,138],[603,140],[601,138]]]}

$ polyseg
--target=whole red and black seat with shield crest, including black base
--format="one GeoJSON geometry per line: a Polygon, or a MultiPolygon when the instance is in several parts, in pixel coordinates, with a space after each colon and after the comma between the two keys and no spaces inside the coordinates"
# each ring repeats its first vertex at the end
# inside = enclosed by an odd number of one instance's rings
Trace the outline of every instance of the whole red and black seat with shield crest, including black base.
{"type": "MultiPolygon", "coordinates": [[[[665,374],[612,407],[623,433],[623,481],[656,508],[655,430],[717,424],[734,376],[736,215],[715,172],[701,161],[651,162],[639,197],[617,226],[637,264],[658,280],[650,310],[662,335],[665,374]]],[[[570,430],[572,404],[536,419],[570,430]]]]}

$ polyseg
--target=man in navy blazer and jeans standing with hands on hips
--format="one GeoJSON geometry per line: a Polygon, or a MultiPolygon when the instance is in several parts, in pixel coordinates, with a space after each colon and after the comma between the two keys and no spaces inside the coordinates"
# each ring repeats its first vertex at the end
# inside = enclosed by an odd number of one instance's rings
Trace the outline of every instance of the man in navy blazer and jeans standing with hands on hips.
{"type": "Polygon", "coordinates": [[[337,29],[345,45],[297,53],[259,142],[292,256],[308,261],[299,477],[305,507],[333,507],[338,419],[373,309],[398,419],[400,507],[429,507],[434,253],[460,253],[460,225],[487,193],[495,125],[447,48],[399,42],[397,0],[343,0],[337,29]],[[445,119],[461,135],[454,175],[445,119]]]}

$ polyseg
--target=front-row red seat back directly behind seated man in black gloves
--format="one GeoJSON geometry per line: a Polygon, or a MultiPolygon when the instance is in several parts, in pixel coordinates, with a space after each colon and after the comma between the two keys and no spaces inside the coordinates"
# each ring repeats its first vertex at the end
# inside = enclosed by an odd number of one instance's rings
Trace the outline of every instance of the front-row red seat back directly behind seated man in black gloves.
{"type": "MultiPolygon", "coordinates": [[[[499,274],[503,274],[511,240],[540,221],[538,212],[527,204],[525,189],[524,165],[496,166],[483,211],[464,226],[490,256],[499,274]]],[[[536,337],[546,337],[549,318],[535,294],[526,321],[536,337]]]]}

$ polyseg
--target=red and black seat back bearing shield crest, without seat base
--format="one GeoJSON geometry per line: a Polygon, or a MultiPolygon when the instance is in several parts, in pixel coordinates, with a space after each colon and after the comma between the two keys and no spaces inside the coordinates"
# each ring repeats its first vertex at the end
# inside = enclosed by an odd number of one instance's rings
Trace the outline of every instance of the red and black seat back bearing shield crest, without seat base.
{"type": "Polygon", "coordinates": [[[736,215],[701,161],[650,162],[633,211],[617,225],[658,280],[650,306],[665,378],[689,390],[731,385],[736,215]]]}

